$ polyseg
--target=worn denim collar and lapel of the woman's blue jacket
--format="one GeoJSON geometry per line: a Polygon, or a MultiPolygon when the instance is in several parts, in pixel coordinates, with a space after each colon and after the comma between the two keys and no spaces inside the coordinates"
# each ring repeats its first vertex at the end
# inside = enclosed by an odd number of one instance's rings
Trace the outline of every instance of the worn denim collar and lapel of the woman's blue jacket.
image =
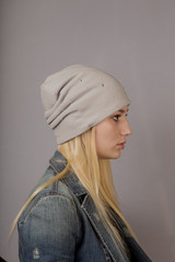
{"type": "MultiPolygon", "coordinates": [[[[52,168],[56,170],[56,172],[58,172],[58,171],[60,172],[65,169],[68,162],[60,154],[60,152],[56,151],[54,157],[49,160],[49,163],[52,166],[52,168]]],[[[114,262],[122,261],[119,255],[119,252],[124,255],[125,261],[128,261],[128,258],[125,254],[119,242],[118,242],[119,250],[116,250],[116,246],[114,245],[114,241],[113,241],[110,235],[108,234],[105,226],[103,225],[92,198],[89,195],[86,189],[81,184],[77,175],[74,172],[70,174],[68,171],[61,180],[72,190],[72,192],[78,196],[79,201],[81,200],[80,204],[81,204],[83,212],[88,216],[94,231],[97,234],[101,241],[108,250],[110,257],[113,258],[113,261],[114,262]]]]}

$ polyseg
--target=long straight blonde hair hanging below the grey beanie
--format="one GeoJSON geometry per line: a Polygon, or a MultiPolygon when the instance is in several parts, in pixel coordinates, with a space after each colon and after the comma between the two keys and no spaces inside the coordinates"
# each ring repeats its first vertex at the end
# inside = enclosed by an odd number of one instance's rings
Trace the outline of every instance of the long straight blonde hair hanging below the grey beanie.
{"type": "Polygon", "coordinates": [[[114,225],[115,217],[113,216],[112,211],[118,214],[118,216],[126,224],[130,234],[133,237],[135,235],[124,218],[118,205],[116,190],[113,181],[110,160],[101,159],[97,156],[95,145],[95,127],[59,145],[58,150],[68,162],[66,168],[61,172],[57,174],[54,178],[49,179],[47,182],[39,186],[39,188],[37,188],[35,192],[28,198],[12,224],[10,236],[12,235],[22,212],[26,209],[35,195],[39,193],[44,188],[62,178],[63,175],[71,168],[77,174],[79,180],[93,199],[94,204],[98,211],[98,215],[104,223],[107,231],[115,241],[116,246],[117,242],[115,239],[117,239],[124,247],[124,241],[118,233],[118,229],[114,225]]]}

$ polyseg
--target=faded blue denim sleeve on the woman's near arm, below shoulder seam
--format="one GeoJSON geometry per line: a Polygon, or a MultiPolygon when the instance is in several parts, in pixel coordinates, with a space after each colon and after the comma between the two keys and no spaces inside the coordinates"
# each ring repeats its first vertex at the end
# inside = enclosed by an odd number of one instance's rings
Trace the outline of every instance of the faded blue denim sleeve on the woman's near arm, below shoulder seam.
{"type": "Polygon", "coordinates": [[[21,262],[74,261],[79,238],[77,209],[63,195],[45,195],[19,221],[21,262]]]}

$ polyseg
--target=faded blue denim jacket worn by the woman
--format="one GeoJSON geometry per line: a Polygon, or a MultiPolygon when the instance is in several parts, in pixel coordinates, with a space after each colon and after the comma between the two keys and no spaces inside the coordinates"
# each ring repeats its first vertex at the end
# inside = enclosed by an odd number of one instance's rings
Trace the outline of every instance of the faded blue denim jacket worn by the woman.
{"type": "MultiPolygon", "coordinates": [[[[65,157],[56,151],[35,189],[66,165],[65,157]]],[[[42,190],[21,215],[18,223],[20,261],[151,262],[119,217],[116,219],[129,249],[129,259],[119,242],[118,249],[114,245],[75,174],[68,171],[42,190]]]]}

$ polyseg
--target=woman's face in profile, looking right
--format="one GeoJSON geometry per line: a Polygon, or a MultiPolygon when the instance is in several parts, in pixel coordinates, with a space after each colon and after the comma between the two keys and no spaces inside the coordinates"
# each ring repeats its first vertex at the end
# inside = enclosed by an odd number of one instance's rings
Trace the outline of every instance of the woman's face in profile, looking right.
{"type": "Polygon", "coordinates": [[[127,119],[128,106],[116,111],[96,124],[95,142],[102,159],[116,159],[125,148],[126,138],[131,134],[127,119]]]}

